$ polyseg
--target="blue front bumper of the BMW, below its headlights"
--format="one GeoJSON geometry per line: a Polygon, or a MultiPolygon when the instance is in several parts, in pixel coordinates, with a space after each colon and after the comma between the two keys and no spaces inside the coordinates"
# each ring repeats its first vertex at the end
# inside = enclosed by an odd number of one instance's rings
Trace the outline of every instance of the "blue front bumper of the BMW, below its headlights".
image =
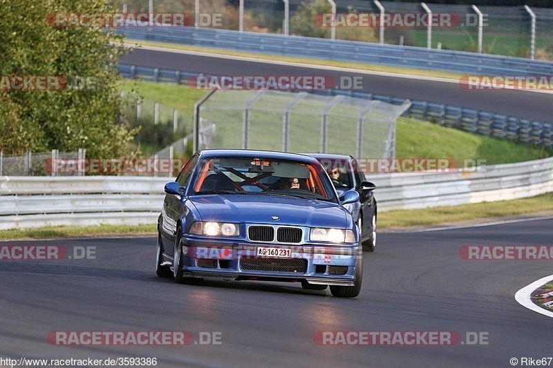
{"type": "Polygon", "coordinates": [[[353,286],[358,244],[262,244],[182,238],[184,275],[223,280],[307,280],[353,286]],[[290,258],[257,256],[259,246],[290,249],[290,258]]]}

